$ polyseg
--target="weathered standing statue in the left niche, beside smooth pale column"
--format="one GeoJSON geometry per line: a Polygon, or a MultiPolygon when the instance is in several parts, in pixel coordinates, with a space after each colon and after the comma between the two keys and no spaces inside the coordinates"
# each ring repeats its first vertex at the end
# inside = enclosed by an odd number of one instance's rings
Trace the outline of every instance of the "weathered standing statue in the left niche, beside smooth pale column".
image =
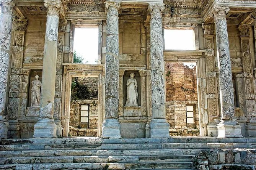
{"type": "Polygon", "coordinates": [[[39,76],[35,76],[35,80],[32,81],[31,88],[31,107],[39,107],[40,106],[40,88],[41,82],[38,80],[39,76]]]}

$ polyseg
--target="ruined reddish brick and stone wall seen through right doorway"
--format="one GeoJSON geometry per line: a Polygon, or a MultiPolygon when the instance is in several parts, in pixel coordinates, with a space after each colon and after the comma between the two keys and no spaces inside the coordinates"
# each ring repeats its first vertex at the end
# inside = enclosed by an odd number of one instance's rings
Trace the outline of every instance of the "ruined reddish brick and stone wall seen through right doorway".
{"type": "Polygon", "coordinates": [[[166,119],[171,136],[198,136],[199,114],[197,101],[196,67],[183,63],[166,62],[166,119]],[[187,127],[186,105],[195,107],[194,128],[187,127]]]}

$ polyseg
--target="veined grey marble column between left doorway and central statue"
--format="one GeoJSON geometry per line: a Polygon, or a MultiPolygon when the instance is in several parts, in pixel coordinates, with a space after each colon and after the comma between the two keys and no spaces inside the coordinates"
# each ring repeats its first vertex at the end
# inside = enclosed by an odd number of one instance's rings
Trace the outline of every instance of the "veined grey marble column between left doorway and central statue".
{"type": "Polygon", "coordinates": [[[118,121],[119,103],[119,2],[105,2],[107,13],[105,117],[102,123],[102,138],[121,138],[118,121]]]}

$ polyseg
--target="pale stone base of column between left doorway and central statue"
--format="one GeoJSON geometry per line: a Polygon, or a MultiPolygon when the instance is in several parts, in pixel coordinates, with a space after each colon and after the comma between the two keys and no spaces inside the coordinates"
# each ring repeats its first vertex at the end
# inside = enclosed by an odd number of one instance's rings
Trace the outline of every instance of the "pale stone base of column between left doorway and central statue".
{"type": "Polygon", "coordinates": [[[105,119],[102,123],[101,138],[122,138],[118,119],[105,119]]]}

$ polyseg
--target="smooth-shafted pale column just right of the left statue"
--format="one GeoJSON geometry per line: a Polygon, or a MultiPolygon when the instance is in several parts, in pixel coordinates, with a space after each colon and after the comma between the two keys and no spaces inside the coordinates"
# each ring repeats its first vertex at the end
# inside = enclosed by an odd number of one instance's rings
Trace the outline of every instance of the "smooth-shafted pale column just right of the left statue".
{"type": "Polygon", "coordinates": [[[44,0],[47,8],[46,36],[40,98],[40,115],[34,125],[34,138],[56,138],[54,123],[54,96],[57,61],[60,0],[44,0]]]}

